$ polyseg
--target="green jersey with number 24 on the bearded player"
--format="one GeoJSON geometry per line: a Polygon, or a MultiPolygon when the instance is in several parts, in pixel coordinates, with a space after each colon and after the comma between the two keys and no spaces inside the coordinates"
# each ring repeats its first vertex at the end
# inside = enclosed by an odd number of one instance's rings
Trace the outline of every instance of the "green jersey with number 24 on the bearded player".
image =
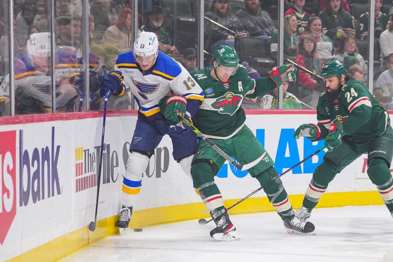
{"type": "Polygon", "coordinates": [[[367,88],[356,79],[349,79],[333,102],[323,92],[319,96],[316,110],[320,132],[318,140],[326,137],[333,121],[340,121],[345,137],[356,142],[376,138],[390,125],[388,112],[379,106],[367,88]]]}

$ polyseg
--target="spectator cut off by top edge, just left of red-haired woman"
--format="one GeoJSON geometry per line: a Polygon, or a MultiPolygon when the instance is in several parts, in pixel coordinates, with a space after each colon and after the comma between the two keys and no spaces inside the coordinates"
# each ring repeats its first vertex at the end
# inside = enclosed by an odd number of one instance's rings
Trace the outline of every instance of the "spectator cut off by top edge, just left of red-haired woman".
{"type": "Polygon", "coordinates": [[[94,33],[97,39],[102,39],[105,31],[117,17],[111,0],[94,0],[90,6],[90,15],[94,16],[94,33]]]}

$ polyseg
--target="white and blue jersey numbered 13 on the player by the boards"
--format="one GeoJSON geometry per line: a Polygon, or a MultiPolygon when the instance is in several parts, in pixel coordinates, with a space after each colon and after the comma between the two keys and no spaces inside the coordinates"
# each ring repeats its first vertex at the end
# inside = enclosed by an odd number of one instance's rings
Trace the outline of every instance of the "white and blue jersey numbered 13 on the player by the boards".
{"type": "Polygon", "coordinates": [[[131,88],[139,105],[139,116],[155,119],[160,112],[160,100],[174,93],[187,99],[187,111],[194,116],[204,98],[204,92],[190,73],[176,60],[158,52],[156,63],[142,71],[133,51],[119,55],[114,70],[123,75],[123,85],[131,88]]]}

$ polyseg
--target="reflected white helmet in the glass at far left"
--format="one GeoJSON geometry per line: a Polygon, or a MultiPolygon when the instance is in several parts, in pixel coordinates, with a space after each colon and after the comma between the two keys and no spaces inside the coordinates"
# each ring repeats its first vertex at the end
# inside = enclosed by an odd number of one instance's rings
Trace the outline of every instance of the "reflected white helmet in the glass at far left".
{"type": "Polygon", "coordinates": [[[33,33],[28,39],[28,55],[36,57],[50,57],[51,56],[51,33],[40,32],[33,33]]]}

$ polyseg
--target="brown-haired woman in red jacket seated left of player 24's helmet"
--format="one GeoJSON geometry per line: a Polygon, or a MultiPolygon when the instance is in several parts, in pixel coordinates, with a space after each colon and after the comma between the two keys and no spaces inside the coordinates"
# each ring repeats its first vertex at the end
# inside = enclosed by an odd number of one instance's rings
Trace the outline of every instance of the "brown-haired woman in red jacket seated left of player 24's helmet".
{"type": "MultiPolygon", "coordinates": [[[[322,58],[317,56],[314,36],[306,34],[302,37],[299,43],[299,54],[296,56],[295,62],[314,74],[321,75],[324,63],[322,58]]],[[[298,97],[315,108],[320,93],[326,89],[323,79],[300,68],[298,84],[300,86],[298,97]]]]}

